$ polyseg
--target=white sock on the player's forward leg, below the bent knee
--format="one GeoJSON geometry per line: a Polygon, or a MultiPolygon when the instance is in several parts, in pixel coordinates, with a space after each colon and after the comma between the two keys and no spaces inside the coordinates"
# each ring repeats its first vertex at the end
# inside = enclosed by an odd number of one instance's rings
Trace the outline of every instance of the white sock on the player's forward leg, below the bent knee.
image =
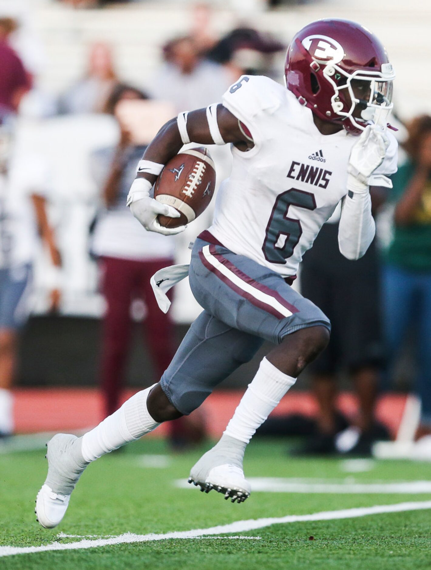
{"type": "Polygon", "coordinates": [[[287,376],[264,358],[224,434],[249,443],[258,427],[295,382],[296,378],[287,376]]]}

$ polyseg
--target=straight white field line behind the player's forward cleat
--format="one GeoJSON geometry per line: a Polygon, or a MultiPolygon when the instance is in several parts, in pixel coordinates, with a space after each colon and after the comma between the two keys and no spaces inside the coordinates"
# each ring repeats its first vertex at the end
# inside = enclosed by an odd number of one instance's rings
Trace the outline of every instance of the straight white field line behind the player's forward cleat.
{"type": "MultiPolygon", "coordinates": [[[[283,477],[249,477],[253,492],[270,493],[328,493],[328,494],[398,494],[420,495],[431,493],[431,481],[375,481],[364,482],[347,479],[307,479],[283,477]]],[[[184,479],[177,479],[175,486],[184,489],[198,489],[184,479]]]]}

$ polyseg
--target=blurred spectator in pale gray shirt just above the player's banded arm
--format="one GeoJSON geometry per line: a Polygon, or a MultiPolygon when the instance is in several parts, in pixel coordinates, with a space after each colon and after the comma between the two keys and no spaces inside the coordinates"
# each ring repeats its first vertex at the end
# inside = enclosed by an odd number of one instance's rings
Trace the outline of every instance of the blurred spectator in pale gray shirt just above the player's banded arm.
{"type": "Polygon", "coordinates": [[[163,51],[165,63],[151,83],[151,94],[173,103],[177,112],[219,101],[232,83],[222,66],[202,59],[190,36],[171,40],[163,51]]]}

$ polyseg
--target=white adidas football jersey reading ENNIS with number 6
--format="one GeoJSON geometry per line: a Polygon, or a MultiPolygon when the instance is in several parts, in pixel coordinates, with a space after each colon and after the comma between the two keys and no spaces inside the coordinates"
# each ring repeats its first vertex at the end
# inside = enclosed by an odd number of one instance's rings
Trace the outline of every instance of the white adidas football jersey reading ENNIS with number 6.
{"type": "MultiPolygon", "coordinates": [[[[320,228],[347,194],[347,164],[357,137],[344,129],[322,135],[312,112],[285,87],[246,76],[223,105],[251,132],[254,147],[232,145],[233,167],[222,182],[209,231],[234,253],[293,276],[320,228]]],[[[397,169],[397,142],[375,172],[397,169]]]]}

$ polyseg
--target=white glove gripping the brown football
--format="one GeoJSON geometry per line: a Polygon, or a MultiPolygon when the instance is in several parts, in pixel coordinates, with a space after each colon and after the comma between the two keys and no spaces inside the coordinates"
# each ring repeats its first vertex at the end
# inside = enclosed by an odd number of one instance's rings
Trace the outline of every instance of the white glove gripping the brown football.
{"type": "Polygon", "coordinates": [[[167,215],[169,218],[179,218],[180,212],[168,204],[161,204],[151,198],[149,193],[152,188],[151,182],[145,178],[135,178],[127,197],[127,206],[130,207],[135,218],[148,231],[156,231],[158,234],[174,235],[184,231],[187,226],[163,227],[158,223],[159,214],[167,215]]]}

